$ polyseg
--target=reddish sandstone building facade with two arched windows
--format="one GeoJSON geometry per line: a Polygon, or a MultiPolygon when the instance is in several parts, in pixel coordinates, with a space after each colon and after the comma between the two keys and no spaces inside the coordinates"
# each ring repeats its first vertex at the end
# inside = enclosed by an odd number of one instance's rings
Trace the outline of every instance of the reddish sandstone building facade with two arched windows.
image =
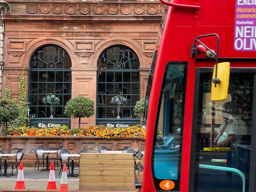
{"type": "Polygon", "coordinates": [[[82,119],[82,126],[140,122],[133,109],[145,96],[165,5],[150,0],[10,0],[5,5],[2,97],[7,74],[16,96],[25,66],[30,125],[77,128],[78,119],[64,114],[66,102],[77,95],[95,102],[95,116],[82,119]]]}

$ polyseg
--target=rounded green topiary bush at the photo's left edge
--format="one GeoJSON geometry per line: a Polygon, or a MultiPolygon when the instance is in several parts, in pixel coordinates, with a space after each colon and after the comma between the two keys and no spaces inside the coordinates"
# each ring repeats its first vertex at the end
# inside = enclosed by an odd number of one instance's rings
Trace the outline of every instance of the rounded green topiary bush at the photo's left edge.
{"type": "Polygon", "coordinates": [[[20,114],[19,105],[14,101],[3,98],[0,99],[0,124],[8,130],[8,124],[17,119],[20,114]]]}

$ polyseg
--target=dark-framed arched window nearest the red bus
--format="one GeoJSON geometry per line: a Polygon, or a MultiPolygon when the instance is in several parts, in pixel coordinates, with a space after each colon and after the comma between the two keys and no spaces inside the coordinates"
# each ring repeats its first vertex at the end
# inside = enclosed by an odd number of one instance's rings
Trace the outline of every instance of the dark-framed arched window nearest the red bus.
{"type": "Polygon", "coordinates": [[[131,119],[140,99],[139,59],[126,46],[103,51],[98,60],[97,119],[131,119]]]}

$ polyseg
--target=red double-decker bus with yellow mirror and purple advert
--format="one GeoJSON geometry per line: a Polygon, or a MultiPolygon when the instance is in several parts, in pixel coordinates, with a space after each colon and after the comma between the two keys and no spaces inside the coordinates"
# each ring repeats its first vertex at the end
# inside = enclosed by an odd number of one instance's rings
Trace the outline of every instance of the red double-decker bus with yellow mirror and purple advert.
{"type": "Polygon", "coordinates": [[[255,192],[256,1],[161,1],[140,190],[255,192]]]}

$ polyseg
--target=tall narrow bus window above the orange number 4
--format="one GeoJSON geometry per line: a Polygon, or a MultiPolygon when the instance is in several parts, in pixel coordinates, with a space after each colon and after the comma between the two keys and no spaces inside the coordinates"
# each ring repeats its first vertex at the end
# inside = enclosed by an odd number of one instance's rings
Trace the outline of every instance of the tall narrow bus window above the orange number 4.
{"type": "Polygon", "coordinates": [[[171,180],[175,183],[173,190],[179,191],[182,133],[186,89],[186,62],[167,63],[160,103],[159,118],[156,122],[156,135],[153,146],[154,177],[171,180]]]}

